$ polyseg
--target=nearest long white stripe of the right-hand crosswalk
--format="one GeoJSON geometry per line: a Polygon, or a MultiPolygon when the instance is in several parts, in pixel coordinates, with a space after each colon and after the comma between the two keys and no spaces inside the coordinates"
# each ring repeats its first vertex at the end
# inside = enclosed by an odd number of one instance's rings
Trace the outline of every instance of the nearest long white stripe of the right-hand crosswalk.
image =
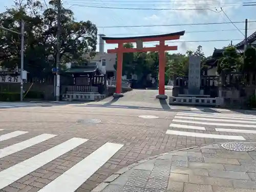
{"type": "Polygon", "coordinates": [[[166,134],[189,136],[189,137],[204,137],[204,138],[213,138],[213,139],[245,140],[245,138],[242,136],[215,135],[215,134],[205,134],[205,133],[181,132],[181,131],[174,131],[174,130],[167,130],[166,134]]]}

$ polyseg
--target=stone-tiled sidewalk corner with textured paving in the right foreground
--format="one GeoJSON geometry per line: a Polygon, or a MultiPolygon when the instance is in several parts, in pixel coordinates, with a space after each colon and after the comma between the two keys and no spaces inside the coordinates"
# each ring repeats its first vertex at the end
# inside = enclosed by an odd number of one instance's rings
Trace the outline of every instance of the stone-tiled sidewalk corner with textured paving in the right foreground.
{"type": "Polygon", "coordinates": [[[123,167],[92,192],[254,192],[256,142],[243,144],[254,151],[210,144],[158,155],[123,167]]]}

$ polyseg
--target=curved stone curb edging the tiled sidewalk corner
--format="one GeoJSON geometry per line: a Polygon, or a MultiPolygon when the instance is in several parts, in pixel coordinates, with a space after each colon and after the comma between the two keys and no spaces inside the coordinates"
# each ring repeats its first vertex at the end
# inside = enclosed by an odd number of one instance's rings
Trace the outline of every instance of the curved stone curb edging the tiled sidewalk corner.
{"type": "MultiPolygon", "coordinates": [[[[206,146],[206,145],[210,145],[210,144],[204,144],[204,145],[201,145],[201,146],[206,146]]],[[[119,169],[116,173],[114,173],[111,176],[109,176],[108,178],[106,178],[102,183],[100,183],[98,186],[96,186],[91,192],[101,192],[106,186],[108,186],[112,181],[117,179],[119,176],[121,176],[127,170],[130,170],[133,167],[135,167],[135,166],[137,166],[141,163],[147,162],[147,161],[152,160],[152,159],[156,159],[156,158],[161,157],[163,155],[168,155],[170,153],[175,153],[175,152],[184,151],[184,150],[190,150],[191,148],[196,148],[196,147],[201,147],[201,146],[190,146],[190,147],[186,147],[186,148],[181,148],[180,150],[174,150],[174,151],[166,152],[166,153],[163,153],[163,154],[155,155],[155,156],[137,161],[135,163],[132,163],[128,166],[125,166],[125,167],[119,169]]]]}

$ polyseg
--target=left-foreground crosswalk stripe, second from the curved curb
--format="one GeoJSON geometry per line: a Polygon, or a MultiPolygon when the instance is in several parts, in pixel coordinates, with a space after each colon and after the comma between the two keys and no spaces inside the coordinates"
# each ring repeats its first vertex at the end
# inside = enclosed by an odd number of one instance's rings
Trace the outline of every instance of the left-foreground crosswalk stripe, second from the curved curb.
{"type": "Polygon", "coordinates": [[[0,189],[10,185],[18,179],[30,174],[34,170],[49,163],[50,161],[58,158],[59,156],[73,150],[75,147],[88,141],[87,139],[72,138],[57,146],[50,148],[49,150],[42,152],[30,159],[13,165],[0,172],[0,189]]]}

